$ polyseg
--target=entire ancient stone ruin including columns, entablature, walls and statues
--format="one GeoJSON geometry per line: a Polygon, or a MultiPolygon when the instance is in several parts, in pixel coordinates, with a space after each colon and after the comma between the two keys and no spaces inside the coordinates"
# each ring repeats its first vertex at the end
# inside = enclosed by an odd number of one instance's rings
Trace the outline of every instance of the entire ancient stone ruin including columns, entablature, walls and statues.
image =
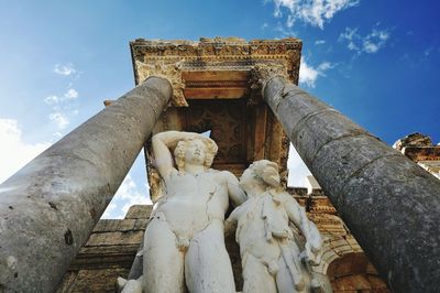
{"type": "Polygon", "coordinates": [[[394,150],[301,90],[300,51],[133,41],[136,87],[0,185],[0,291],[117,292],[122,278],[125,292],[219,292],[221,275],[223,292],[260,278],[266,292],[436,292],[439,146],[411,134],[394,150]],[[290,142],[308,188],[286,186],[290,142]],[[100,220],[142,148],[155,209],[100,220]]]}

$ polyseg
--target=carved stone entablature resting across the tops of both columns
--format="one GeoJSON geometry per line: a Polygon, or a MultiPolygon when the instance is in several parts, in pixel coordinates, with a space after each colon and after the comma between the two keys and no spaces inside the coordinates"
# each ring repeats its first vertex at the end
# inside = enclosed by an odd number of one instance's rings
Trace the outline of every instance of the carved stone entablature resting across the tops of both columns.
{"type": "Polygon", "coordinates": [[[201,37],[198,42],[138,39],[130,43],[135,83],[151,75],[167,77],[174,87],[174,106],[186,99],[240,98],[250,91],[255,65],[282,66],[298,83],[301,41],[201,37]]]}

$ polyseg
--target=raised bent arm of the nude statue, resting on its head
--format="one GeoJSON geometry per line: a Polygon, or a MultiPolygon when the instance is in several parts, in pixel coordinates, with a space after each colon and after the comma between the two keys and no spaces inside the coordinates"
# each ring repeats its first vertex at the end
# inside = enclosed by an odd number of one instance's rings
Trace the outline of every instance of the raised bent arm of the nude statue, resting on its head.
{"type": "Polygon", "coordinates": [[[152,138],[152,148],[155,165],[163,178],[169,176],[173,167],[173,155],[169,149],[176,148],[180,140],[189,137],[197,137],[198,133],[184,131],[165,131],[155,134],[152,138]]]}

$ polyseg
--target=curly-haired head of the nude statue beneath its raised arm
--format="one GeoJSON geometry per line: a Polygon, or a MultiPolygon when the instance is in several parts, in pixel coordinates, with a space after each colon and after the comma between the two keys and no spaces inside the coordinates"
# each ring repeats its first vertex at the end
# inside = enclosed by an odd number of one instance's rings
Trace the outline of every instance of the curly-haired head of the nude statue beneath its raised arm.
{"type": "Polygon", "coordinates": [[[217,151],[217,143],[209,138],[187,138],[177,143],[174,150],[174,159],[179,172],[184,171],[185,163],[204,165],[209,169],[217,151]]]}

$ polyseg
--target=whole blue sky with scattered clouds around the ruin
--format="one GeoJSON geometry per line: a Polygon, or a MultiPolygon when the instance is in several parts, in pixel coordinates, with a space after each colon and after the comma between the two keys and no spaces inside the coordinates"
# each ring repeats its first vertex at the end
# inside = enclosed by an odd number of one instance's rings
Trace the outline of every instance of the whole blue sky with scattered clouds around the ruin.
{"type": "MultiPolygon", "coordinates": [[[[440,141],[440,2],[0,0],[0,182],[134,86],[129,42],[302,40],[300,86],[388,144],[440,141]]],[[[292,154],[299,185],[307,170],[292,154]]],[[[138,160],[107,217],[146,203],[138,160]]]]}

